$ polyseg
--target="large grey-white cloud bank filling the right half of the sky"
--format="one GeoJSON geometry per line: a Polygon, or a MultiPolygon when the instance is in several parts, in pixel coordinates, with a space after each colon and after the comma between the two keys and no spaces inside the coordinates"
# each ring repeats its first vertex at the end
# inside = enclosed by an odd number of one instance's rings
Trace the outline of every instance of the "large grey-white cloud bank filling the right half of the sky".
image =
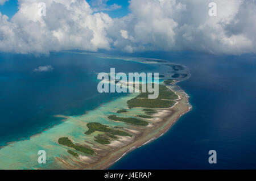
{"type": "Polygon", "coordinates": [[[122,40],[113,33],[112,38],[118,39],[115,47],[130,45],[134,51],[256,53],[256,1],[216,0],[216,17],[208,15],[209,2],[131,0],[131,14],[115,24],[127,30],[133,39],[122,40]]]}

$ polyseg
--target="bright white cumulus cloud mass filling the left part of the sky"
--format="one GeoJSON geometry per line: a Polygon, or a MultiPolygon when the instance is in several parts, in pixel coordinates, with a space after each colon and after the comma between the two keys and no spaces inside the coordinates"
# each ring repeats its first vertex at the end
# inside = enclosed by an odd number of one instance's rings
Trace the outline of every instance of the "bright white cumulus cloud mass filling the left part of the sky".
{"type": "Polygon", "coordinates": [[[83,0],[47,0],[46,16],[38,15],[40,0],[20,0],[19,11],[8,21],[0,15],[0,50],[48,53],[79,49],[110,49],[105,29],[113,20],[95,13],[83,0]]]}

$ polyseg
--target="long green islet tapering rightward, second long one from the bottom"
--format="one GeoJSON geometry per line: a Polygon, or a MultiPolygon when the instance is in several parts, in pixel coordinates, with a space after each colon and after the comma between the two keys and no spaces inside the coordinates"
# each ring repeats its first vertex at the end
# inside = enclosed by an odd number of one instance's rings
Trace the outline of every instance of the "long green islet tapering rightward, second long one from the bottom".
{"type": "Polygon", "coordinates": [[[85,134],[92,134],[94,131],[98,131],[98,132],[106,132],[106,133],[110,133],[118,136],[131,136],[131,134],[127,132],[110,129],[108,126],[100,123],[88,123],[87,127],[89,128],[89,130],[85,132],[85,134]]]}

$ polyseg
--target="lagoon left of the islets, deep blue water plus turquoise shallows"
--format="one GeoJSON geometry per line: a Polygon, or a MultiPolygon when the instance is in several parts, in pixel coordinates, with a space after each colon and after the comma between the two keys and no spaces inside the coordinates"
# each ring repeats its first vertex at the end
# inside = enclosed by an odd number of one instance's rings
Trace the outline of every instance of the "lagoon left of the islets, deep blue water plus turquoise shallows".
{"type": "MultiPolygon", "coordinates": [[[[84,132],[88,129],[86,123],[95,121],[112,127],[126,127],[124,123],[110,121],[107,117],[127,108],[127,100],[136,94],[98,93],[96,73],[108,73],[110,68],[125,73],[166,73],[171,70],[160,64],[87,54],[1,56],[0,137],[2,145],[9,143],[0,149],[0,169],[64,169],[55,159],[60,157],[70,161],[67,149],[57,144],[60,137],[69,137],[76,143],[91,141],[93,136],[86,136],[84,132]],[[22,68],[18,69],[21,65],[22,68]],[[33,71],[42,65],[51,65],[54,69],[40,73],[33,71]],[[63,119],[54,115],[70,117],[63,123],[63,119]],[[37,134],[39,132],[42,133],[37,134]],[[38,164],[39,150],[47,153],[46,165],[38,164]]],[[[138,109],[129,112],[135,114],[138,109]]]]}

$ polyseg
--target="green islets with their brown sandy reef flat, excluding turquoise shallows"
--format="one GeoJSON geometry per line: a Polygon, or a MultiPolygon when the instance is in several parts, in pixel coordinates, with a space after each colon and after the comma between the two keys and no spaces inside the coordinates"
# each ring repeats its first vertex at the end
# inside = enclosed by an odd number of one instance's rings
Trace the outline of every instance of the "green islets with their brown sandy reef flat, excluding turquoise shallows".
{"type": "MultiPolygon", "coordinates": [[[[166,83],[174,81],[167,79],[166,83]]],[[[58,143],[73,149],[68,150],[73,159],[88,162],[83,169],[108,168],[123,154],[162,135],[181,115],[190,110],[187,94],[173,91],[166,83],[159,85],[157,99],[148,99],[149,93],[141,92],[127,100],[129,111],[121,109],[115,114],[106,115],[109,121],[126,124],[124,127],[110,127],[95,121],[86,124],[84,135],[91,136],[90,141],[81,145],[74,144],[68,137],[61,137],[58,143]],[[134,115],[133,111],[137,114],[134,115]]],[[[62,162],[65,163],[64,160],[62,162]]]]}

